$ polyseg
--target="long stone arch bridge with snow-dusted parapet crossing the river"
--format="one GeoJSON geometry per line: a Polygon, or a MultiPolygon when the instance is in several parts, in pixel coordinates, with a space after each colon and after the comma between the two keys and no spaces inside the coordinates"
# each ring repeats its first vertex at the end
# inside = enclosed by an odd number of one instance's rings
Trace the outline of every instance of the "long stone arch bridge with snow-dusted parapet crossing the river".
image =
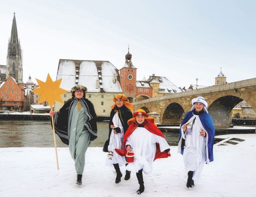
{"type": "Polygon", "coordinates": [[[162,124],[180,124],[192,107],[191,100],[198,96],[208,102],[207,109],[215,127],[228,128],[232,121],[231,111],[242,100],[256,112],[256,78],[137,101],[133,109],[159,113],[156,122],[162,124]]]}

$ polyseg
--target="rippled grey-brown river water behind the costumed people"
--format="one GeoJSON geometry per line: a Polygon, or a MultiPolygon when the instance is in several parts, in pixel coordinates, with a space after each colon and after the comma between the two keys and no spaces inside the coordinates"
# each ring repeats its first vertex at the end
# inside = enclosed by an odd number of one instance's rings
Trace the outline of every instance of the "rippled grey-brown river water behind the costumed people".
{"type": "MultiPolygon", "coordinates": [[[[98,138],[90,147],[103,147],[109,134],[108,123],[97,122],[98,138]]],[[[178,145],[179,133],[163,133],[170,146],[178,145]]],[[[56,135],[57,147],[68,147],[56,135]]],[[[54,147],[50,121],[1,121],[0,147],[54,147]]]]}

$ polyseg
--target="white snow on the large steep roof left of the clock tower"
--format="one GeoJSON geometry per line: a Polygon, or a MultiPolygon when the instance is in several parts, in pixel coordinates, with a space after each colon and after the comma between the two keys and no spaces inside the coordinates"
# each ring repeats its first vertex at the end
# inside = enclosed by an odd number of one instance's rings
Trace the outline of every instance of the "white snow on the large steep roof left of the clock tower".
{"type": "Polygon", "coordinates": [[[94,60],[60,59],[56,79],[62,78],[61,88],[71,90],[76,85],[76,65],[80,65],[77,82],[86,86],[88,92],[101,92],[101,88],[105,92],[123,92],[117,80],[118,69],[109,61],[94,60]],[[101,74],[99,74],[100,68],[101,74]],[[97,80],[102,80],[102,85],[99,87],[96,84],[97,80]]]}

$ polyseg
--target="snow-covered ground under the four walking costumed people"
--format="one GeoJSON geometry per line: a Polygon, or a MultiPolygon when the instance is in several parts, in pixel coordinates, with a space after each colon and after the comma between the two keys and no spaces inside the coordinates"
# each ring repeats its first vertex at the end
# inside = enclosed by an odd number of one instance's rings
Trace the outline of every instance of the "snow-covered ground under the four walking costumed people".
{"type": "MultiPolygon", "coordinates": [[[[225,136],[221,136],[225,138],[225,136]]],[[[214,162],[205,165],[195,187],[186,187],[187,175],[182,155],[171,147],[171,157],[158,159],[153,172],[144,174],[143,197],[255,197],[256,134],[226,137],[244,139],[237,145],[215,146],[214,162]]],[[[75,184],[74,162],[67,148],[58,148],[56,169],[54,148],[1,148],[0,197],[131,197],[138,189],[135,172],[125,181],[114,183],[114,168],[105,166],[102,148],[88,148],[83,185],[75,184]]]]}

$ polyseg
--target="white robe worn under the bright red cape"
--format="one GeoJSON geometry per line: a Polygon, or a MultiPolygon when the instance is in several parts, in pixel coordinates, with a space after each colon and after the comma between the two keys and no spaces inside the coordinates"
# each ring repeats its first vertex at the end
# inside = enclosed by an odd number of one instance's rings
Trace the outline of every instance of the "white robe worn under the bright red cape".
{"type": "Polygon", "coordinates": [[[130,145],[131,152],[134,153],[134,161],[129,163],[126,169],[135,172],[143,169],[145,174],[151,173],[156,156],[156,143],[159,143],[161,152],[170,149],[163,137],[151,133],[144,127],[137,127],[126,140],[126,145],[130,145]]]}

